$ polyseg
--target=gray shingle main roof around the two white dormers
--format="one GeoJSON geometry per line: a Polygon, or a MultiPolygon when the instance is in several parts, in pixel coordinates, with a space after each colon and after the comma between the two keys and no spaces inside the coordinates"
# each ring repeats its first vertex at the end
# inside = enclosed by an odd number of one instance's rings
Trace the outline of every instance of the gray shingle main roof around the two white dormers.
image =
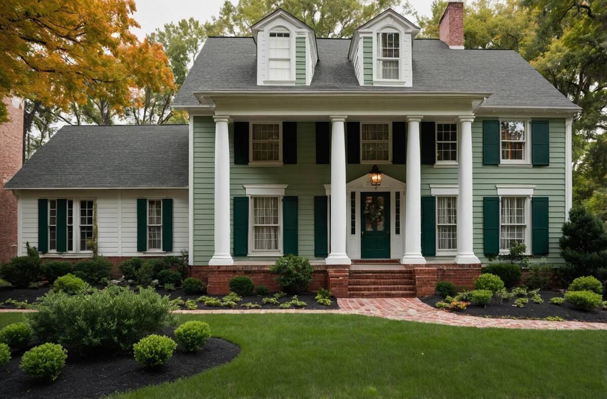
{"type": "Polygon", "coordinates": [[[248,90],[488,92],[487,106],[575,107],[514,50],[451,50],[439,40],[413,41],[413,87],[361,86],[348,61],[349,39],[317,39],[319,63],[309,86],[257,85],[252,38],[209,38],[174,106],[197,106],[193,92],[248,90]]]}

